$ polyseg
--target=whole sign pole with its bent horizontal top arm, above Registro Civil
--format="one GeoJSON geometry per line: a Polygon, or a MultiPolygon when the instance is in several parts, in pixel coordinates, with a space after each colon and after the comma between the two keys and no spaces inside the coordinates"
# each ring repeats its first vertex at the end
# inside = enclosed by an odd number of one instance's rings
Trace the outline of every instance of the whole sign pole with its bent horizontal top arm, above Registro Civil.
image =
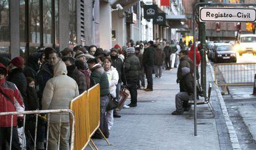
{"type": "MultiPolygon", "coordinates": [[[[193,23],[193,44],[194,44],[194,60],[196,60],[195,53],[195,11],[199,6],[256,6],[256,4],[232,4],[232,3],[222,3],[222,2],[198,2],[194,4],[192,23],[193,23]]],[[[200,16],[199,16],[200,17],[200,16]]],[[[203,68],[206,69],[206,68],[203,68]]],[[[197,78],[196,78],[196,61],[194,61],[194,135],[197,136],[197,78]]]]}

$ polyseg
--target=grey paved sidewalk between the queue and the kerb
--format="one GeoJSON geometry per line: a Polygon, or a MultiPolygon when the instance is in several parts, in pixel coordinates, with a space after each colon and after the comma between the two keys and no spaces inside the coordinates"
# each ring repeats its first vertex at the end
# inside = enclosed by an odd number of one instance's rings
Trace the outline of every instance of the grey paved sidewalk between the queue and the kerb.
{"type": "MultiPolygon", "coordinates": [[[[138,90],[136,108],[122,109],[114,119],[108,146],[94,140],[99,149],[220,149],[216,122],[207,105],[198,106],[197,136],[194,136],[194,111],[173,116],[177,69],[164,71],[154,79],[153,92],[138,90]]],[[[129,104],[129,100],[126,101],[129,104]]]]}

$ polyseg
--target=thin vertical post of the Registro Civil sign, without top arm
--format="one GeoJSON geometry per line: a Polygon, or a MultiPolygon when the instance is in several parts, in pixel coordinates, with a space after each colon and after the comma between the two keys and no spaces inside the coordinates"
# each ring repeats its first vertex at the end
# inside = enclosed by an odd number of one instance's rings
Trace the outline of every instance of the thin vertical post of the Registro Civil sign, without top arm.
{"type": "Polygon", "coordinates": [[[196,52],[195,52],[195,10],[197,5],[194,5],[193,15],[192,15],[192,22],[193,22],[193,45],[194,45],[194,136],[197,136],[197,64],[196,61],[196,52]]]}

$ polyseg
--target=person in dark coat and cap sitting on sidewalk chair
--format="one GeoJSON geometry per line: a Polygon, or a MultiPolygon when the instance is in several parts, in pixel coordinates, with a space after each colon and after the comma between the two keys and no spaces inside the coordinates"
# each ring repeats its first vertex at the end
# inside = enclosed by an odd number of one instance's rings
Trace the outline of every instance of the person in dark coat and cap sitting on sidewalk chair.
{"type": "Polygon", "coordinates": [[[194,77],[190,72],[190,69],[187,67],[182,68],[182,87],[184,87],[184,92],[179,92],[176,94],[175,97],[175,105],[176,111],[174,111],[173,115],[180,115],[183,114],[183,102],[193,100],[194,98],[194,77]]]}

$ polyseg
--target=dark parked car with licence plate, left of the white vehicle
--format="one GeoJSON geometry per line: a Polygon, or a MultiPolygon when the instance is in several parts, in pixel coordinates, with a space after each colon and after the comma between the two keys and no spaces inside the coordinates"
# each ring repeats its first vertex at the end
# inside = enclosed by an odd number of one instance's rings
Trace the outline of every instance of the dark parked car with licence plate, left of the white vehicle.
{"type": "Polygon", "coordinates": [[[226,43],[215,43],[213,52],[211,53],[212,60],[218,62],[236,63],[236,51],[232,45],[226,43]]]}

